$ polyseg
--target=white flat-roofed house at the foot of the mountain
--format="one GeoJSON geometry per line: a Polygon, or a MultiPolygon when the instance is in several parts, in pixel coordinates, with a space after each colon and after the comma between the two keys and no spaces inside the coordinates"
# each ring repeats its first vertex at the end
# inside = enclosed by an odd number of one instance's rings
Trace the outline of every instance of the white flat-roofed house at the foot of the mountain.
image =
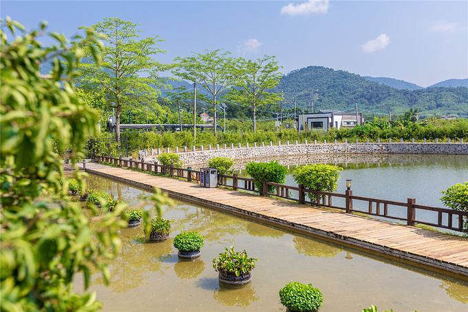
{"type": "Polygon", "coordinates": [[[328,131],[332,128],[341,129],[341,127],[345,127],[352,129],[356,125],[363,125],[364,117],[362,113],[358,113],[356,118],[356,114],[352,113],[320,111],[313,114],[299,114],[296,116],[296,122],[300,131],[305,129],[328,131]]]}

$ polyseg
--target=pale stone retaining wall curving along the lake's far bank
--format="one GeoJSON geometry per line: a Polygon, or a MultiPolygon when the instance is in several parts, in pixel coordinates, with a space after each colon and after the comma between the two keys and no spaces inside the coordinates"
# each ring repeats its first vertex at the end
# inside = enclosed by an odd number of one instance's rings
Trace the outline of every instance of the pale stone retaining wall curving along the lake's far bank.
{"type": "MultiPolygon", "coordinates": [[[[353,144],[307,144],[273,145],[261,147],[220,147],[195,152],[182,152],[185,165],[201,164],[214,157],[232,159],[279,158],[304,154],[451,154],[468,155],[468,144],[460,143],[353,143],[353,144]]],[[[156,159],[149,156],[147,159],[156,159]]]]}

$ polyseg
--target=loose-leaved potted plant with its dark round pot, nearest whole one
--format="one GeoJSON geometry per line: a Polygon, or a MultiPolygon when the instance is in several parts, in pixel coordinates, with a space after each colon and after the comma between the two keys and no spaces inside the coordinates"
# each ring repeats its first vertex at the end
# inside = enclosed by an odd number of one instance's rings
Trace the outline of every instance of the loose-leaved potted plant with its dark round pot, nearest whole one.
{"type": "Polygon", "coordinates": [[[258,259],[248,258],[247,252],[234,251],[234,247],[225,248],[224,253],[213,259],[213,267],[220,272],[218,280],[225,284],[243,285],[252,280],[251,271],[255,268],[258,259]]]}

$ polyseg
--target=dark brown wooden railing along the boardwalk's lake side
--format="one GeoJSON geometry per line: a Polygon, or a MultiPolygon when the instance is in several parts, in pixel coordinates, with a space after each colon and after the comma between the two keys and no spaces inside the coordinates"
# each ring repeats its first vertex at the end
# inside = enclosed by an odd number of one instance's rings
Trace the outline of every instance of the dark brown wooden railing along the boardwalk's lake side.
{"type": "MultiPolygon", "coordinates": [[[[116,158],[112,156],[95,156],[95,161],[98,163],[111,163],[119,167],[130,167],[149,171],[155,174],[169,174],[171,177],[184,178],[190,181],[200,183],[200,171],[184,169],[171,166],[158,165],[158,163],[145,163],[145,160],[133,160],[132,158],[123,159],[121,156],[116,158]]],[[[396,202],[392,200],[383,200],[377,198],[369,198],[352,195],[352,190],[345,191],[345,194],[331,193],[328,191],[314,191],[306,189],[302,185],[292,187],[290,185],[282,185],[271,183],[266,180],[257,181],[251,178],[242,178],[233,174],[232,176],[218,174],[217,185],[232,187],[234,191],[244,190],[253,193],[258,193],[261,196],[276,196],[286,200],[299,202],[300,204],[308,204],[322,207],[330,207],[333,209],[341,209],[346,213],[359,212],[369,216],[377,216],[391,220],[401,220],[407,225],[414,226],[416,223],[450,229],[452,231],[460,231],[468,233],[468,229],[463,228],[463,222],[468,222],[467,211],[456,211],[446,208],[429,207],[424,205],[416,205],[415,198],[408,198],[407,202],[396,202]],[[297,192],[297,197],[292,196],[292,191],[297,192]],[[344,198],[344,207],[334,205],[333,201],[336,198],[344,198]],[[363,202],[366,210],[353,209],[353,204],[356,206],[358,202],[363,202]],[[427,222],[418,218],[418,211],[436,211],[437,222],[427,222]],[[398,216],[398,214],[400,216],[398,216]],[[401,216],[404,215],[404,216],[401,216]]]]}

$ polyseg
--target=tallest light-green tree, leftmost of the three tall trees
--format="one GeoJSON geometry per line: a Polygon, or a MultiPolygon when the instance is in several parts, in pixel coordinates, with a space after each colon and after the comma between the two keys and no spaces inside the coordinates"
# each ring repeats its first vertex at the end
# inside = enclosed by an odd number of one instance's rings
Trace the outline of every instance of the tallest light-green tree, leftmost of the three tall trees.
{"type": "MultiPolygon", "coordinates": [[[[118,18],[105,18],[104,21],[90,28],[103,34],[105,51],[100,64],[93,61],[81,63],[78,83],[83,87],[99,88],[106,92],[111,107],[116,108],[116,133],[120,138],[120,112],[129,96],[142,96],[146,101],[153,100],[160,94],[156,87],[167,87],[165,79],[158,72],[168,70],[153,59],[158,53],[165,53],[156,47],[163,41],[158,36],[139,39],[142,30],[139,23],[122,21],[118,18]]],[[[88,29],[82,26],[80,29],[88,29]]],[[[82,41],[85,57],[88,58],[96,49],[93,41],[82,41]]]]}

